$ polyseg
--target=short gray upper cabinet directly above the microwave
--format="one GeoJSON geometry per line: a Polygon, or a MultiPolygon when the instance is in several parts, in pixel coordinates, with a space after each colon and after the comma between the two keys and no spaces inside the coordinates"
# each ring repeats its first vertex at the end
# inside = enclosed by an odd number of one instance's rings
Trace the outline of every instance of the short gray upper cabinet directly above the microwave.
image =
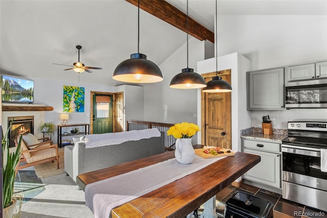
{"type": "Polygon", "coordinates": [[[287,67],[287,82],[327,78],[327,61],[287,67]]]}

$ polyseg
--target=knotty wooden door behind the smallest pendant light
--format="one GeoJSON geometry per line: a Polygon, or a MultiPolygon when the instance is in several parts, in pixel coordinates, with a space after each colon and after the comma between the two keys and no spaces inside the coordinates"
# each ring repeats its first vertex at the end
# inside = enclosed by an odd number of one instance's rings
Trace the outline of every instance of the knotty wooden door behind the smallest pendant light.
{"type": "MultiPolygon", "coordinates": [[[[205,81],[216,73],[202,74],[205,81]]],[[[220,71],[223,80],[230,83],[230,70],[220,71]]],[[[204,93],[201,99],[201,143],[208,146],[231,148],[231,93],[204,93]]]]}

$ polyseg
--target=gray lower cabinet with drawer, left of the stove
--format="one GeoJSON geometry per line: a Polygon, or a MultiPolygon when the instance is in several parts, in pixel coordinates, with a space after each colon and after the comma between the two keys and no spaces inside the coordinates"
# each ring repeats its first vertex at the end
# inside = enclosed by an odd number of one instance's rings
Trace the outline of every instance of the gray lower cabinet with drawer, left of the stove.
{"type": "Polygon", "coordinates": [[[281,143],[242,139],[242,151],[261,157],[243,179],[281,188],[281,143]]]}

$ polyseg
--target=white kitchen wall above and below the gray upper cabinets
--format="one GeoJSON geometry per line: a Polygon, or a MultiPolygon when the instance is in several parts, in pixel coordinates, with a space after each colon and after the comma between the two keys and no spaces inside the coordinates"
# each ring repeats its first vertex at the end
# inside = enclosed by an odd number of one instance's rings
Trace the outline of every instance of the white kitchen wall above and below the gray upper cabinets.
{"type": "MultiPolygon", "coordinates": [[[[327,16],[222,15],[218,16],[218,38],[218,56],[238,52],[251,60],[250,70],[324,60],[327,16]]],[[[251,113],[253,127],[261,127],[262,116],[268,114],[276,119],[273,128],[286,129],[287,121],[327,120],[327,109],[251,113]]]]}

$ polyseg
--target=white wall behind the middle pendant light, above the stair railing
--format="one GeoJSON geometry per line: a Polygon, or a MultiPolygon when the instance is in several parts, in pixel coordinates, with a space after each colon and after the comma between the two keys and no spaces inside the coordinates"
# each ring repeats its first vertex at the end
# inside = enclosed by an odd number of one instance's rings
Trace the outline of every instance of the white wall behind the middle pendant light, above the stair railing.
{"type": "MultiPolygon", "coordinates": [[[[189,68],[197,72],[197,61],[205,58],[205,41],[194,37],[189,39],[189,68]]],[[[212,46],[213,47],[213,44],[212,46]]],[[[194,115],[197,111],[197,90],[180,90],[169,87],[172,78],[187,67],[186,43],[175,51],[170,57],[159,65],[164,80],[157,83],[144,85],[144,119],[145,121],[179,123],[197,123],[194,115]],[[167,112],[164,110],[167,105],[167,112]]],[[[207,56],[212,55],[213,49],[207,56]]],[[[198,73],[198,72],[197,72],[198,73]]],[[[199,123],[198,123],[199,124],[199,123]]],[[[196,134],[199,136],[200,133],[196,134]]],[[[192,137],[192,143],[197,143],[197,138],[192,137]]]]}

